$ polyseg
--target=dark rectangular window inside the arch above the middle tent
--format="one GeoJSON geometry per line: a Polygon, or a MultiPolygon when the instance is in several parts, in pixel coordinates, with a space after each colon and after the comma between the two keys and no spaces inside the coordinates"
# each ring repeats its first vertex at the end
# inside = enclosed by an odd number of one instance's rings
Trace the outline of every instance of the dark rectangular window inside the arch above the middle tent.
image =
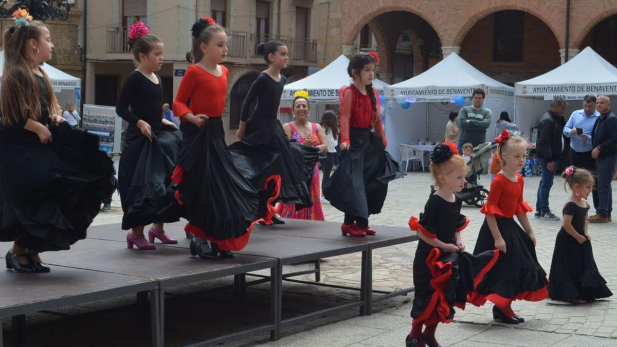
{"type": "Polygon", "coordinates": [[[493,61],[523,61],[523,11],[505,10],[495,13],[493,61]]]}

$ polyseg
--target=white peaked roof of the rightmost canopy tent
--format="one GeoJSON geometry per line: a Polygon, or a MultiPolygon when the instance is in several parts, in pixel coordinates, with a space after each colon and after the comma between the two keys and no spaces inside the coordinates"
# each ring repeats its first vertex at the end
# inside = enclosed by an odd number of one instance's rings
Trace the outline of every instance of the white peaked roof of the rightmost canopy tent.
{"type": "Polygon", "coordinates": [[[587,47],[565,64],[544,75],[515,83],[516,96],[564,96],[582,99],[585,94],[617,95],[617,68],[587,47]]]}

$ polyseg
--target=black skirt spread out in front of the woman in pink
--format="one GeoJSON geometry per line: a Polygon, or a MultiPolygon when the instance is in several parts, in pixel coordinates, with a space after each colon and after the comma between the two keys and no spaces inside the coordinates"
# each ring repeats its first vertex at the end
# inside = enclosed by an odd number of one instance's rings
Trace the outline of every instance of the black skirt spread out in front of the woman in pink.
{"type": "Polygon", "coordinates": [[[312,169],[320,159],[317,148],[288,140],[278,119],[254,115],[246,123],[246,136],[229,146],[239,172],[255,187],[262,187],[273,175],[281,178],[281,192],[276,201],[310,207],[312,169]]]}

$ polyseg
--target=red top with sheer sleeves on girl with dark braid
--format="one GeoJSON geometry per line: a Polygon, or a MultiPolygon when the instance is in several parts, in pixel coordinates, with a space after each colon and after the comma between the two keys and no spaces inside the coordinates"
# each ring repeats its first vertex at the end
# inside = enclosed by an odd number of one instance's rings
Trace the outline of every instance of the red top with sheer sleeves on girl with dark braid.
{"type": "MultiPolygon", "coordinates": [[[[350,144],[349,127],[368,128],[371,125],[375,132],[381,135],[383,146],[386,148],[387,140],[384,133],[383,123],[381,123],[381,115],[379,115],[379,107],[377,112],[373,111],[371,97],[367,94],[362,94],[354,85],[341,88],[343,97],[341,99],[341,143],[350,144]]],[[[379,91],[373,89],[375,97],[379,98],[379,91]]]]}

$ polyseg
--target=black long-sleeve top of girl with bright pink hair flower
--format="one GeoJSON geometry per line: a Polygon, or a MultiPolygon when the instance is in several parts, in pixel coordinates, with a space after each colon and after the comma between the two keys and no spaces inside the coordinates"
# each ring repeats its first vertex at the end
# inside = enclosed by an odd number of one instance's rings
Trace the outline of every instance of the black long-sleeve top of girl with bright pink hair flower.
{"type": "Polygon", "coordinates": [[[159,75],[156,77],[159,84],[152,83],[137,70],[126,77],[116,105],[116,113],[130,125],[136,125],[140,119],[150,125],[162,122],[163,86],[159,75]]]}

